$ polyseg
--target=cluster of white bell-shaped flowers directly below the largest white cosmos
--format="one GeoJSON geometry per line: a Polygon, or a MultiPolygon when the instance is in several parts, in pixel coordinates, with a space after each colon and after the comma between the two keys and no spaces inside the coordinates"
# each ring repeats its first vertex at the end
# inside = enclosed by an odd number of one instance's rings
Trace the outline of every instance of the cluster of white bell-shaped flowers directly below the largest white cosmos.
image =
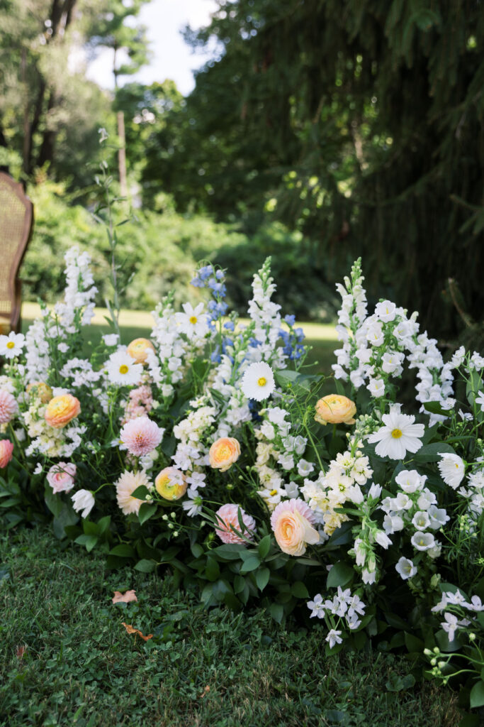
{"type": "MultiPolygon", "coordinates": [[[[410,542],[414,549],[427,553],[430,558],[438,558],[441,545],[432,531],[440,530],[450,518],[446,510],[437,507],[435,494],[424,486],[426,480],[427,476],[420,475],[417,470],[401,470],[398,473],[395,482],[399,491],[395,497],[385,497],[380,506],[385,513],[383,528],[387,535],[403,529],[413,531],[410,542]]],[[[402,561],[397,571],[406,579],[411,577],[409,569],[412,571],[413,568],[411,561],[402,561]]],[[[414,575],[413,571],[411,575],[414,575]]]]}

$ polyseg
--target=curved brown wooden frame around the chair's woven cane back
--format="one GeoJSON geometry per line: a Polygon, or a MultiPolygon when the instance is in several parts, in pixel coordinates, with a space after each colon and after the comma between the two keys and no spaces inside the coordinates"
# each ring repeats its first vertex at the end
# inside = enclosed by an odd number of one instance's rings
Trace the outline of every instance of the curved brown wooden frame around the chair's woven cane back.
{"type": "MultiPolygon", "coordinates": [[[[30,201],[30,199],[28,198],[28,196],[25,195],[22,184],[20,182],[15,182],[14,180],[12,180],[12,177],[9,177],[9,174],[0,172],[0,186],[7,186],[9,188],[10,192],[17,197],[18,201],[20,202],[20,204],[23,206],[23,209],[25,210],[25,213],[23,216],[22,230],[21,230],[21,234],[18,239],[17,250],[15,252],[15,255],[13,257],[12,264],[10,265],[9,270],[7,269],[6,266],[4,267],[1,263],[2,251],[1,251],[1,244],[0,244],[0,275],[3,275],[5,277],[8,276],[8,291],[9,291],[9,297],[10,297],[10,302],[11,302],[8,324],[9,324],[9,328],[11,331],[15,331],[16,333],[18,333],[18,332],[20,332],[20,326],[21,326],[20,307],[22,304],[22,300],[21,300],[22,281],[18,277],[18,271],[20,269],[20,265],[22,264],[22,260],[25,255],[25,251],[27,250],[27,246],[28,246],[28,243],[30,242],[30,237],[32,235],[33,204],[30,201]]],[[[0,230],[0,239],[1,239],[1,230],[0,230]]],[[[0,324],[1,324],[2,318],[4,319],[5,324],[7,324],[7,321],[6,321],[7,316],[0,313],[0,324]]]]}

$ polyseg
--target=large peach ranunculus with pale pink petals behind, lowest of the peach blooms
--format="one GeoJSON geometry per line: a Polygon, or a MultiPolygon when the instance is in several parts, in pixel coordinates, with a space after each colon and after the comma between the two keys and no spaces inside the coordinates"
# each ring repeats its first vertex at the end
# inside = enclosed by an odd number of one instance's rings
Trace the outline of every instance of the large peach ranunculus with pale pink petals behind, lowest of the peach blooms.
{"type": "Polygon", "coordinates": [[[319,532],[313,528],[314,522],[313,512],[302,499],[279,502],[271,515],[271,527],[282,552],[303,555],[306,545],[319,542],[319,532]]]}

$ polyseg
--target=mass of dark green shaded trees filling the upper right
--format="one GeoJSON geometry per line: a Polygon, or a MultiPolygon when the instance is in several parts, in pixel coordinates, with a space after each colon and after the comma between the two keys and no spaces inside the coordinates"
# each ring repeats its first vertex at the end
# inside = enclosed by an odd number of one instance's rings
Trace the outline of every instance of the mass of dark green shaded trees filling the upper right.
{"type": "Polygon", "coordinates": [[[271,209],[330,276],[363,254],[370,291],[430,330],[481,321],[482,3],[220,0],[187,37],[214,36],[171,155],[180,208],[271,209]]]}

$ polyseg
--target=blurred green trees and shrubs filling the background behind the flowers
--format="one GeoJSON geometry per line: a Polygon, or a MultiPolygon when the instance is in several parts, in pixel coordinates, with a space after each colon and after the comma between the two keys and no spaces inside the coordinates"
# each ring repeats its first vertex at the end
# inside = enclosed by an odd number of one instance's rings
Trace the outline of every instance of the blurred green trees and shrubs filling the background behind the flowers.
{"type": "Polygon", "coordinates": [[[480,348],[482,1],[218,0],[207,28],[186,28],[193,47],[216,47],[187,97],[169,79],[129,79],[149,61],[144,1],[0,0],[0,165],[36,202],[32,296],[54,297],[53,263],[74,241],[102,285],[97,129],[115,169],[122,112],[136,214],[119,228],[124,282],[134,273],[123,305],[170,286],[181,300],[210,258],[242,306],[271,254],[285,310],[329,319],[335,282],[362,255],[373,302],[480,348]],[[112,49],[112,95],[68,70],[80,46],[112,49]]]}

